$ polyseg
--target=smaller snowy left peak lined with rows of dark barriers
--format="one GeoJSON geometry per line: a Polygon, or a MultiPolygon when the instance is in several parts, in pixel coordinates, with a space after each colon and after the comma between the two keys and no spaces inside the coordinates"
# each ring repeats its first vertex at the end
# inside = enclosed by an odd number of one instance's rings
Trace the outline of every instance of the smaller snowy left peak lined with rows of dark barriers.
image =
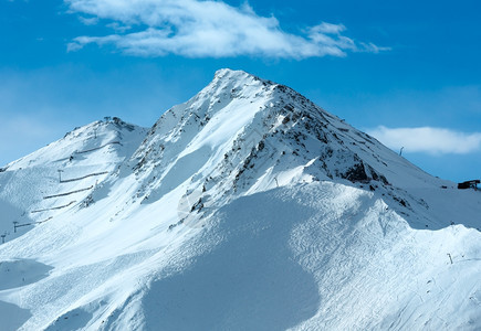
{"type": "Polygon", "coordinates": [[[0,232],[12,239],[74,206],[132,156],[146,129],[118,118],[76,128],[59,141],[2,168],[0,232]],[[20,227],[13,232],[12,222],[20,227]]]}

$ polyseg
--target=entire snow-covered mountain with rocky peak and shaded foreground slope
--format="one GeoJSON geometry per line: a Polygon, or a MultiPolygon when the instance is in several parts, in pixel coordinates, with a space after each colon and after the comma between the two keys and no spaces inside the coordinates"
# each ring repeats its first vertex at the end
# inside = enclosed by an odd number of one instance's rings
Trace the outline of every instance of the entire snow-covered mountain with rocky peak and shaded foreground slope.
{"type": "Polygon", "coordinates": [[[1,168],[0,211],[1,330],[481,328],[481,194],[244,72],[1,168]]]}

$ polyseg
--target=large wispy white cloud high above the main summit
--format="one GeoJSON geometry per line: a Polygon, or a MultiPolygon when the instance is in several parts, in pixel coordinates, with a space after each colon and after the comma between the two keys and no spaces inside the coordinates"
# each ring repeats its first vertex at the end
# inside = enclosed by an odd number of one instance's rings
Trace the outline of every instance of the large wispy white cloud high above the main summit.
{"type": "Polygon", "coordinates": [[[142,56],[177,54],[188,57],[239,55],[278,58],[346,56],[346,52],[388,50],[373,43],[355,42],[343,35],[343,24],[323,22],[306,33],[284,32],[274,17],[258,15],[251,7],[200,0],[65,0],[71,12],[88,14],[118,29],[111,35],[79,36],[69,51],[84,45],[112,44],[125,53],[142,56]]]}

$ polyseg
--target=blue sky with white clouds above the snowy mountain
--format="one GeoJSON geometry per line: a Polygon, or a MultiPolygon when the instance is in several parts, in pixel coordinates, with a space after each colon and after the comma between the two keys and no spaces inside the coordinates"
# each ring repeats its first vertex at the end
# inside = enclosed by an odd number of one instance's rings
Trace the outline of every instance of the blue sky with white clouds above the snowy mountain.
{"type": "Polygon", "coordinates": [[[0,163],[118,116],[149,127],[244,70],[433,175],[481,177],[479,1],[0,0],[0,163]]]}

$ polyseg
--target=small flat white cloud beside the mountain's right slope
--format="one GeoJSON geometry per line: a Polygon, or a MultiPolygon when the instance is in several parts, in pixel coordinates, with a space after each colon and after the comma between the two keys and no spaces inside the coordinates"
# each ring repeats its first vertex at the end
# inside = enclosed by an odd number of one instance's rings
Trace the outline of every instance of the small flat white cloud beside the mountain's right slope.
{"type": "Polygon", "coordinates": [[[384,145],[406,152],[429,154],[467,154],[481,149],[481,132],[466,134],[443,128],[386,128],[379,126],[367,132],[384,145]]]}

